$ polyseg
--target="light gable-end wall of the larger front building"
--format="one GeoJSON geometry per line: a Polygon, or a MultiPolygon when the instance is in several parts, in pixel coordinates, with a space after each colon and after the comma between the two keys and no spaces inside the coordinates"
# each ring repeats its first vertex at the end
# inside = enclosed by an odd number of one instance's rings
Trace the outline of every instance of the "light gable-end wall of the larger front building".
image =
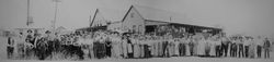
{"type": "Polygon", "coordinates": [[[135,8],[132,8],[122,24],[123,30],[145,34],[145,20],[135,8]]]}

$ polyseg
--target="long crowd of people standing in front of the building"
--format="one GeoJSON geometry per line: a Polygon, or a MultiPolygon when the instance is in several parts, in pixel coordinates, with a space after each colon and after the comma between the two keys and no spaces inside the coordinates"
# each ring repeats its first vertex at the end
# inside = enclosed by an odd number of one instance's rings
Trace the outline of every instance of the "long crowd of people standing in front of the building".
{"type": "Polygon", "coordinates": [[[76,32],[59,35],[49,30],[8,37],[9,59],[148,59],[170,57],[270,58],[271,41],[262,37],[228,37],[170,34],[119,34],[76,32]],[[57,55],[58,54],[58,55],[57,55]],[[59,58],[58,58],[59,57],[59,58]]]}

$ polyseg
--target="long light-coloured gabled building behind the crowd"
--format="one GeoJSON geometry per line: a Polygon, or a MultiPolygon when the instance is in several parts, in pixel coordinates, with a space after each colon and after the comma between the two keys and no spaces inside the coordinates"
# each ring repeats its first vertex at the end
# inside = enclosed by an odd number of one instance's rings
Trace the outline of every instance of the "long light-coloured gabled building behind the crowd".
{"type": "Polygon", "coordinates": [[[187,33],[207,30],[212,34],[218,34],[221,32],[221,28],[196,24],[196,22],[185,18],[185,15],[141,5],[132,5],[126,12],[119,12],[119,14],[107,14],[103,15],[100,10],[96,10],[90,25],[91,28],[104,26],[104,29],[109,30],[119,29],[139,34],[156,32],[160,26],[184,28],[187,33]]]}

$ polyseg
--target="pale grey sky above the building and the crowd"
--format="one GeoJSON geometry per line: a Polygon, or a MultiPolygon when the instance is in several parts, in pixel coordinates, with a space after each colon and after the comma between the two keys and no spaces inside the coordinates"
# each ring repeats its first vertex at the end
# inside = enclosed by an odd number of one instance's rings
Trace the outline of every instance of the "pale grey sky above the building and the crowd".
{"type": "MultiPolygon", "coordinates": [[[[26,1],[0,0],[0,28],[25,26],[26,1]]],[[[88,27],[96,8],[128,10],[132,4],[181,13],[201,24],[221,25],[228,34],[274,37],[274,0],[61,0],[57,26],[88,27]]],[[[53,0],[31,0],[34,25],[50,27],[54,7],[53,0]]]]}

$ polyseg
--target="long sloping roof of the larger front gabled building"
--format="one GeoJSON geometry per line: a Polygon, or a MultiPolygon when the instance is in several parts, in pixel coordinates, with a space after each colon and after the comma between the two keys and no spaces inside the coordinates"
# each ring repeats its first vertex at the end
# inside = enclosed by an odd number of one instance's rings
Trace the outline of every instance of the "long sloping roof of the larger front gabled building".
{"type": "Polygon", "coordinates": [[[196,25],[196,26],[206,26],[206,27],[214,27],[212,24],[205,24],[199,21],[194,21],[192,18],[189,18],[186,15],[183,15],[181,13],[175,13],[171,11],[149,8],[149,7],[142,7],[142,5],[130,5],[129,10],[125,14],[124,18],[128,15],[129,11],[132,9],[135,9],[140,16],[145,21],[158,21],[158,22],[168,22],[168,23],[179,23],[179,24],[187,24],[187,25],[196,25]]]}

